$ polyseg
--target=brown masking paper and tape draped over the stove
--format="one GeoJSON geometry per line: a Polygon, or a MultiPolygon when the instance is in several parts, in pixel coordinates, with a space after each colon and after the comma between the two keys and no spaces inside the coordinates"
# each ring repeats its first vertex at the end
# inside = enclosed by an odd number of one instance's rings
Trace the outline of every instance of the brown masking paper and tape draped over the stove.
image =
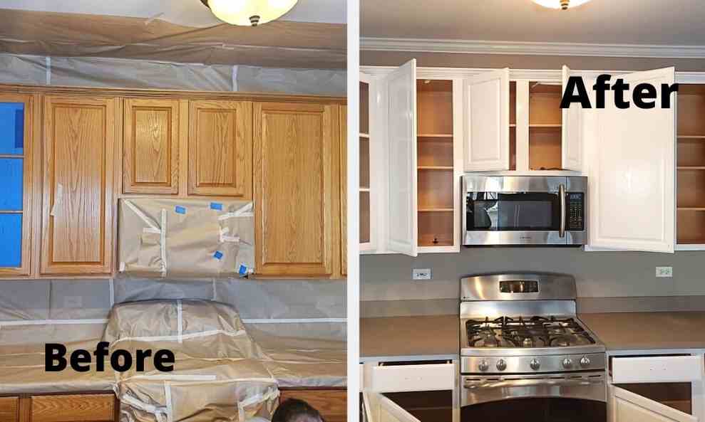
{"type": "Polygon", "coordinates": [[[245,422],[271,418],[279,397],[269,360],[237,312],[208,300],[115,305],[103,341],[110,352],[170,349],[173,371],[115,372],[120,422],[245,422]]]}

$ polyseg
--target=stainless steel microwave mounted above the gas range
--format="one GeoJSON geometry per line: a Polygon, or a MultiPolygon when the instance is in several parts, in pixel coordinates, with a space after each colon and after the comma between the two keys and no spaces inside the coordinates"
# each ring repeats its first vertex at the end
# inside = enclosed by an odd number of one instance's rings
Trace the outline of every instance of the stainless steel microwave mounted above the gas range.
{"type": "Polygon", "coordinates": [[[463,176],[463,245],[584,245],[587,177],[463,176]]]}

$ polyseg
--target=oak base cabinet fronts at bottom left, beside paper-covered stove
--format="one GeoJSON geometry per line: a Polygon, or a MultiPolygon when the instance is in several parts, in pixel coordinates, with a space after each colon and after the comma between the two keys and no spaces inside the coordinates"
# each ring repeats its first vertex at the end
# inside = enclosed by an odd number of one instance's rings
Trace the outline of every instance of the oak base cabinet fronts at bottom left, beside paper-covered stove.
{"type": "Polygon", "coordinates": [[[114,422],[113,394],[0,397],[0,422],[114,422]]]}

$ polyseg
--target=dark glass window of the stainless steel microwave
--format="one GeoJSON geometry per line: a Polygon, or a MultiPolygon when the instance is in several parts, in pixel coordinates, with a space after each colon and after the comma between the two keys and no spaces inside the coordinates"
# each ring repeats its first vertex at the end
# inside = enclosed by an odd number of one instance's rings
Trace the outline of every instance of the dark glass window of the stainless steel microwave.
{"type": "Polygon", "coordinates": [[[475,192],[467,196],[467,228],[477,231],[557,231],[557,194],[475,192]]]}

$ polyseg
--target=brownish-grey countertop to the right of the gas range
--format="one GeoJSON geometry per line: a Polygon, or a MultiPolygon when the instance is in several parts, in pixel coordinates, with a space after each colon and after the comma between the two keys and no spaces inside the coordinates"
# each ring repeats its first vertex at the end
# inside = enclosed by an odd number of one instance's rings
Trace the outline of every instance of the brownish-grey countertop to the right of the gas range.
{"type": "Polygon", "coordinates": [[[607,350],[705,349],[705,312],[580,314],[607,350]]]}

